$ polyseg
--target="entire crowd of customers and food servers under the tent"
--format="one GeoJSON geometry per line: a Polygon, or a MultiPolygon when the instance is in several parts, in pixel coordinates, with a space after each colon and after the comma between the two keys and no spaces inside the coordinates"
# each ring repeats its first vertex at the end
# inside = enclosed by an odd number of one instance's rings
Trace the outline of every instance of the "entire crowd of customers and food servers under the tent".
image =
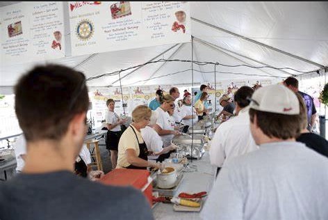
{"type": "MultiPolygon", "coordinates": [[[[182,134],[179,125],[192,126],[211,111],[207,89],[200,87],[194,106],[188,91],[179,106],[179,88],[167,95],[158,90],[149,107],[132,111],[133,123],[126,129],[115,101],[107,100],[106,148],[113,168],[161,168],[177,149],[171,141],[182,134]]],[[[26,141],[20,150],[24,166],[0,184],[0,219],[90,219],[95,214],[97,219],[153,219],[140,191],[77,176],[88,175],[83,140],[89,98],[81,72],[60,65],[35,67],[19,79],[15,95],[26,141]]],[[[313,100],[298,91],[297,79],[228,90],[220,105],[219,116],[229,119],[211,141],[218,177],[201,217],[328,219],[328,141],[310,132],[313,100]]]]}

